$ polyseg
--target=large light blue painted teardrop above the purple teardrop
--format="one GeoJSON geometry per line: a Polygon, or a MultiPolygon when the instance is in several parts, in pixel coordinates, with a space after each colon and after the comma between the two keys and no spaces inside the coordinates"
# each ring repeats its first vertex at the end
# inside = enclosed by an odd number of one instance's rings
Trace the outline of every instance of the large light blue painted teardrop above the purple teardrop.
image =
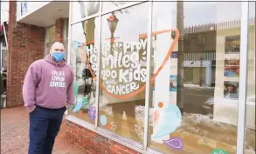
{"type": "Polygon", "coordinates": [[[182,121],[182,113],[175,104],[169,104],[164,110],[163,123],[152,138],[165,137],[176,131],[182,121]]]}

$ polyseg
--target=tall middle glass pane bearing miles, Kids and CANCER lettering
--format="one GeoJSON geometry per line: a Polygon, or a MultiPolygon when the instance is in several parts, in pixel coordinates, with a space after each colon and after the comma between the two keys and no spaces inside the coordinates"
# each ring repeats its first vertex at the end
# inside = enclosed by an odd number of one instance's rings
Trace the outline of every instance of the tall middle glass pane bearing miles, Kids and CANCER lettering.
{"type": "Polygon", "coordinates": [[[102,17],[99,126],[142,142],[148,3],[102,17]]]}

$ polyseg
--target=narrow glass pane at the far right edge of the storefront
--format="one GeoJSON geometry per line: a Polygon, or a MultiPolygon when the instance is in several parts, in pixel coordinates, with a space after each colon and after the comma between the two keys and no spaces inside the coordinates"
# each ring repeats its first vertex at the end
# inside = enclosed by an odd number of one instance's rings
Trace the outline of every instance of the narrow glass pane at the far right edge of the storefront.
{"type": "Polygon", "coordinates": [[[255,153],[255,2],[249,3],[248,74],[245,154],[255,153]]]}

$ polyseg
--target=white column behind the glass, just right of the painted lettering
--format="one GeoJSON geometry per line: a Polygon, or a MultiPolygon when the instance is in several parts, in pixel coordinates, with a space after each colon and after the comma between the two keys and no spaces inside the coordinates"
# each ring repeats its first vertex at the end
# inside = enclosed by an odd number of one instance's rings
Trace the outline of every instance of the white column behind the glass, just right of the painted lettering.
{"type": "MultiPolygon", "coordinates": [[[[170,20],[170,19],[169,19],[170,20]]],[[[156,30],[164,30],[165,18],[157,18],[156,30]]],[[[170,45],[172,43],[171,34],[164,33],[156,37],[156,70],[163,64],[163,60],[168,54],[170,45]]],[[[170,60],[164,65],[163,70],[160,71],[156,77],[155,92],[154,92],[154,110],[159,113],[163,113],[166,107],[170,104],[170,60]],[[158,103],[162,102],[163,107],[159,107],[158,103]]],[[[164,122],[164,114],[159,114],[159,121],[156,123],[153,129],[153,135],[160,131],[160,128],[164,122]]],[[[163,139],[169,139],[169,136],[153,139],[157,143],[163,143],[163,139]]]]}

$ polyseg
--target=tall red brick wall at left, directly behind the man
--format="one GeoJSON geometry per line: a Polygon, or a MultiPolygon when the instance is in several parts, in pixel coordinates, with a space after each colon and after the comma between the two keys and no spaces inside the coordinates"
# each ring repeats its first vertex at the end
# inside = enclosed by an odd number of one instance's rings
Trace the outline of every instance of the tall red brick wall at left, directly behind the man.
{"type": "Polygon", "coordinates": [[[9,3],[7,53],[7,107],[24,104],[24,75],[35,60],[44,57],[45,28],[16,22],[17,2],[9,3]]]}

